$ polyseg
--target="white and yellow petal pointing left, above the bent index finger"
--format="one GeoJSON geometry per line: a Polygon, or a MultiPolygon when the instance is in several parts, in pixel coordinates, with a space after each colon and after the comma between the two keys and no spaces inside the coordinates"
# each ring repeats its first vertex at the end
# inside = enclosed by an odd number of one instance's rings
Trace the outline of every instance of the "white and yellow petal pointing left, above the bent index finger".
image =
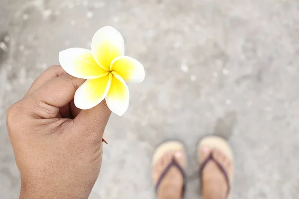
{"type": "Polygon", "coordinates": [[[69,48],[59,53],[62,68],[70,75],[82,79],[94,79],[106,76],[108,71],[94,60],[91,50],[69,48]]]}

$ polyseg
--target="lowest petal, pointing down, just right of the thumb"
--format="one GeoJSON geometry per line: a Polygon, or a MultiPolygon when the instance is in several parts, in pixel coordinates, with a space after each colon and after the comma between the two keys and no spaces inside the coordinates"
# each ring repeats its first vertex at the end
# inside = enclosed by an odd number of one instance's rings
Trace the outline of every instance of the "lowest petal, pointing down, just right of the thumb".
{"type": "Polygon", "coordinates": [[[116,72],[112,72],[112,81],[106,96],[108,108],[115,114],[122,116],[129,106],[129,89],[126,82],[116,72]]]}

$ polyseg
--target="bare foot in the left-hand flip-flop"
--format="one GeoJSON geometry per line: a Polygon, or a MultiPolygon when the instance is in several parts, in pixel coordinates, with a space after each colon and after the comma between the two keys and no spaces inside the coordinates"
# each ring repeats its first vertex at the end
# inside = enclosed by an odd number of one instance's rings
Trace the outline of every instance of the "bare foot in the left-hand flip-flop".
{"type": "MultiPolygon", "coordinates": [[[[160,176],[166,167],[175,158],[176,162],[185,168],[185,154],[183,151],[165,153],[153,166],[152,176],[154,185],[157,184],[160,176]]],[[[158,188],[158,199],[182,199],[183,176],[179,169],[175,166],[170,168],[165,177],[161,181],[158,188]]]]}

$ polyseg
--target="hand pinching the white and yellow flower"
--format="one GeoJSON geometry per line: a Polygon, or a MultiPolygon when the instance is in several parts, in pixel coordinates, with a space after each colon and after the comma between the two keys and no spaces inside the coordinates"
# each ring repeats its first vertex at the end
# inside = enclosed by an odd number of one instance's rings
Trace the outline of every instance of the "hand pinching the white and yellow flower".
{"type": "Polygon", "coordinates": [[[7,111],[7,128],[21,175],[20,199],[87,199],[99,175],[110,110],[74,105],[85,80],[52,66],[7,111]]]}

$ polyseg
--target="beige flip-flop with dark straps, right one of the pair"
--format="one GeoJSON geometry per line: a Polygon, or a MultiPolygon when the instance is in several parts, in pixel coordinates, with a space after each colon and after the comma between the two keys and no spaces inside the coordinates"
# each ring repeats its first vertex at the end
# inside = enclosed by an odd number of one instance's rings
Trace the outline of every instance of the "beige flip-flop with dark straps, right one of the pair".
{"type": "MultiPolygon", "coordinates": [[[[224,140],[221,137],[218,136],[207,136],[204,137],[200,143],[198,144],[198,149],[197,149],[197,153],[200,153],[200,149],[201,147],[206,146],[209,147],[211,149],[211,151],[213,149],[218,149],[220,150],[233,164],[233,160],[234,160],[234,156],[233,156],[233,152],[231,147],[229,146],[228,142],[226,140],[224,140]]],[[[226,199],[231,199],[232,195],[232,185],[233,185],[233,172],[230,174],[228,173],[225,168],[216,160],[213,158],[212,153],[202,162],[200,163],[200,159],[199,159],[199,155],[197,155],[198,157],[198,163],[200,164],[200,169],[199,169],[199,176],[200,179],[202,176],[202,172],[205,168],[205,166],[207,165],[208,162],[210,161],[214,161],[216,163],[216,165],[219,167],[221,173],[224,175],[225,179],[226,179],[226,183],[228,186],[228,192],[227,192],[227,197],[226,199]]],[[[202,182],[201,182],[202,185],[202,182]]]]}

